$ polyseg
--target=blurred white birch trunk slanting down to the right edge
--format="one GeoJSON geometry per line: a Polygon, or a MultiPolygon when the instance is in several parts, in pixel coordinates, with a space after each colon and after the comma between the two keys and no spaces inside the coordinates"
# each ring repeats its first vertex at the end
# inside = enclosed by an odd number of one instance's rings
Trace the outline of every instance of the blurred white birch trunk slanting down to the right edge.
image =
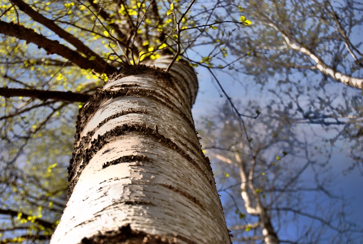
{"type": "Polygon", "coordinates": [[[292,48],[295,49],[304,55],[310,57],[315,63],[316,68],[319,69],[324,75],[330,76],[331,78],[342,82],[345,85],[348,85],[353,88],[363,89],[363,79],[362,78],[356,78],[348,75],[344,75],[343,73],[340,73],[333,68],[329,67],[329,65],[325,64],[323,60],[319,59],[317,55],[315,55],[313,52],[311,52],[309,49],[302,47],[299,43],[291,40],[289,36],[287,36],[277,25],[273,23],[269,23],[270,26],[272,26],[274,29],[276,29],[278,32],[281,33],[282,37],[284,37],[286,44],[292,48]]]}

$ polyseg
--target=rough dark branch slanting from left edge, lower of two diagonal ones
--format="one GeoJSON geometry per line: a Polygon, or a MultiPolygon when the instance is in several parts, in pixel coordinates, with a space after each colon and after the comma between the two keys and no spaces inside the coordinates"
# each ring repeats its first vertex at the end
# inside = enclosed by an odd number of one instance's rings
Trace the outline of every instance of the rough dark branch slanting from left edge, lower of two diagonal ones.
{"type": "Polygon", "coordinates": [[[25,40],[38,45],[39,48],[44,48],[48,53],[57,53],[58,55],[69,59],[72,63],[78,65],[82,69],[93,69],[98,73],[106,73],[111,75],[117,71],[116,68],[107,65],[102,65],[92,62],[86,57],[83,57],[78,52],[62,45],[57,40],[49,40],[46,37],[36,33],[33,29],[25,28],[22,25],[7,23],[0,20],[0,33],[8,36],[13,36],[21,40],[25,40]]]}

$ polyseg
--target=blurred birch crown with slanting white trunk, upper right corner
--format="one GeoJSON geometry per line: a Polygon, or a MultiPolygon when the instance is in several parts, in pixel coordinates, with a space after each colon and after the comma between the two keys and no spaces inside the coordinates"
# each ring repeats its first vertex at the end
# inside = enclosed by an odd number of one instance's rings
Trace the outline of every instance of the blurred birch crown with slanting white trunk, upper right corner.
{"type": "Polygon", "coordinates": [[[260,77],[271,71],[320,72],[331,82],[362,90],[361,9],[361,3],[351,0],[235,2],[227,11],[253,16],[260,27],[229,39],[238,46],[231,45],[233,51],[249,53],[236,68],[260,77]]]}

